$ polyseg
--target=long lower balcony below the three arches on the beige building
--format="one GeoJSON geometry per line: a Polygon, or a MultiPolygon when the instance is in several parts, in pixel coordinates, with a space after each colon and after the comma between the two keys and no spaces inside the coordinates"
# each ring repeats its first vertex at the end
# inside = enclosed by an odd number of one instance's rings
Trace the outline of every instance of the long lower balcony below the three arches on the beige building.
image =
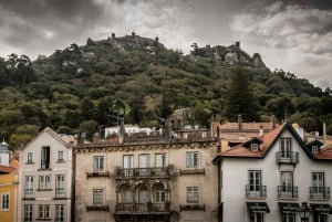
{"type": "Polygon", "coordinates": [[[117,214],[160,214],[169,213],[169,202],[165,203],[116,203],[117,214]]]}

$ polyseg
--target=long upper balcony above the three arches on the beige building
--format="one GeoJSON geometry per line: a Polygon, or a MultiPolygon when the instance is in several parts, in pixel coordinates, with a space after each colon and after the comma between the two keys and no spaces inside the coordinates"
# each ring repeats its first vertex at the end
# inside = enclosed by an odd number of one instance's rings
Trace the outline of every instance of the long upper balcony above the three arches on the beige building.
{"type": "Polygon", "coordinates": [[[116,170],[116,179],[133,178],[169,178],[169,168],[120,168],[116,170]]]}

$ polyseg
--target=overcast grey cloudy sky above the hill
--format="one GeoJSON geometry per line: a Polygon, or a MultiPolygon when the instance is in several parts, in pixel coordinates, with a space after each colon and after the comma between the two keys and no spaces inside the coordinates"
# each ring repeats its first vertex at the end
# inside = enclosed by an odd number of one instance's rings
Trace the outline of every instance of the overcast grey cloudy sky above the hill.
{"type": "Polygon", "coordinates": [[[155,38],[190,45],[241,42],[273,71],[332,88],[332,0],[0,0],[0,56],[34,60],[87,38],[155,38]]]}

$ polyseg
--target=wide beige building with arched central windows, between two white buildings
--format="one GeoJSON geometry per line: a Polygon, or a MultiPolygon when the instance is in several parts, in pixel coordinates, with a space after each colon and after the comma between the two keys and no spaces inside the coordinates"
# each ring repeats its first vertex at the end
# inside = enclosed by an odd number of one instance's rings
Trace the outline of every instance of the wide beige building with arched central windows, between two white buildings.
{"type": "Polygon", "coordinates": [[[217,221],[216,148],[197,136],[79,146],[75,221],[217,221]]]}

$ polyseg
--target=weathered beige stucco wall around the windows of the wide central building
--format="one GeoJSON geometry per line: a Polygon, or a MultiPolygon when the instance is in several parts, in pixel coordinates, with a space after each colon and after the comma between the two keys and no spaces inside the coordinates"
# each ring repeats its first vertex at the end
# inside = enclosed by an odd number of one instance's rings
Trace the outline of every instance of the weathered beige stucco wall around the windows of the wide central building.
{"type": "MultiPolygon", "coordinates": [[[[138,155],[151,155],[151,167],[155,167],[155,154],[166,155],[166,166],[172,166],[172,179],[168,180],[170,210],[178,212],[176,221],[217,221],[212,210],[217,205],[217,167],[211,163],[216,155],[216,144],[196,146],[194,144],[179,145],[151,145],[151,146],[123,146],[117,148],[77,148],[76,156],[76,221],[90,222],[114,221],[113,213],[116,203],[116,168],[123,168],[123,155],[134,155],[134,167],[138,168],[138,155]],[[81,149],[81,150],[80,150],[81,149]],[[186,169],[186,151],[199,152],[199,169],[205,169],[205,175],[180,175],[180,169],[186,169]],[[93,156],[105,156],[107,177],[87,178],[86,172],[93,171],[93,156]],[[199,204],[205,204],[203,210],[179,210],[179,204],[186,204],[186,187],[199,187],[199,204]],[[104,188],[106,204],[110,212],[86,212],[86,205],[92,203],[92,189],[104,188]]],[[[151,180],[151,183],[156,181],[151,180]]]]}

